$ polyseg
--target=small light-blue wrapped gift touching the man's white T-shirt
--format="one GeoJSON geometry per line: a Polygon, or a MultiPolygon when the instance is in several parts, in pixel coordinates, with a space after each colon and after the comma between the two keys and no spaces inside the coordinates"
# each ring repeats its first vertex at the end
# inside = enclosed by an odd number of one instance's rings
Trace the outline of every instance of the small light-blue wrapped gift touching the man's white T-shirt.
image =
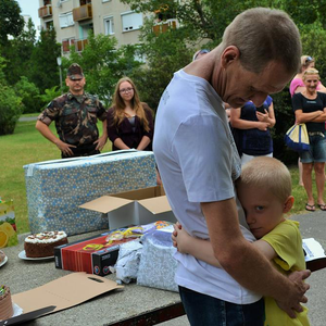
{"type": "Polygon", "coordinates": [[[171,234],[173,227],[155,230],[145,235],[137,284],[151,288],[178,291],[174,280],[177,261],[173,258],[176,248],[173,247],[171,234]]]}

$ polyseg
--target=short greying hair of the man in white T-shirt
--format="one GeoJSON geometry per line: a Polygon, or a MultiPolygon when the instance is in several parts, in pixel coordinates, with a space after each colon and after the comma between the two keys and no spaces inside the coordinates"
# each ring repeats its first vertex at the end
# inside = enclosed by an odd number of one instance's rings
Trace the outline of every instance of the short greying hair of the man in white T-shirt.
{"type": "Polygon", "coordinates": [[[228,46],[236,46],[241,65],[256,74],[271,61],[283,63],[293,75],[300,66],[302,48],[298,27],[280,10],[253,8],[237,15],[223,35],[223,50],[228,46]]]}

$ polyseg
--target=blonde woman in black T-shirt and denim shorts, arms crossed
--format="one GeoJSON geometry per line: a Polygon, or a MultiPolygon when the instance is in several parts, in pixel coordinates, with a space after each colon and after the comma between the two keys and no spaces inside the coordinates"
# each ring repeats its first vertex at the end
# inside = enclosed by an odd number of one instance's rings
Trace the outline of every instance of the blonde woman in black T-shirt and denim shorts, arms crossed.
{"type": "Polygon", "coordinates": [[[302,92],[293,95],[292,106],[296,114],[296,123],[304,123],[306,125],[310,142],[310,150],[300,152],[303,186],[308,196],[305,210],[310,212],[315,211],[315,201],[312,191],[312,171],[314,170],[317,187],[317,205],[322,211],[326,211],[324,201],[326,93],[317,91],[319,82],[317,70],[305,70],[302,80],[305,89],[302,92]]]}

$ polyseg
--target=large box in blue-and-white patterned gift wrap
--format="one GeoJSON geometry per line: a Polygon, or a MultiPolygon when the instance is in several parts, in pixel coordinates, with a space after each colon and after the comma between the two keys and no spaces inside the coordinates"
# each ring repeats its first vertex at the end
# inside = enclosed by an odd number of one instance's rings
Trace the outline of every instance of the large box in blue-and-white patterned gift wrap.
{"type": "Polygon", "coordinates": [[[148,151],[114,151],[24,166],[32,233],[64,230],[68,236],[108,228],[101,213],[78,205],[105,193],[156,185],[148,151]]]}

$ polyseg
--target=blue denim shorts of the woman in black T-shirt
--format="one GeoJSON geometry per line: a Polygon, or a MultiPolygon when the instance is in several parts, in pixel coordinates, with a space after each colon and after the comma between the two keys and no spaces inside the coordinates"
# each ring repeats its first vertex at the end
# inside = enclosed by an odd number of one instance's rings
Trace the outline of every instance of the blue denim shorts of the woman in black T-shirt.
{"type": "Polygon", "coordinates": [[[302,163],[326,162],[326,138],[319,135],[309,136],[310,150],[300,153],[302,163]]]}

